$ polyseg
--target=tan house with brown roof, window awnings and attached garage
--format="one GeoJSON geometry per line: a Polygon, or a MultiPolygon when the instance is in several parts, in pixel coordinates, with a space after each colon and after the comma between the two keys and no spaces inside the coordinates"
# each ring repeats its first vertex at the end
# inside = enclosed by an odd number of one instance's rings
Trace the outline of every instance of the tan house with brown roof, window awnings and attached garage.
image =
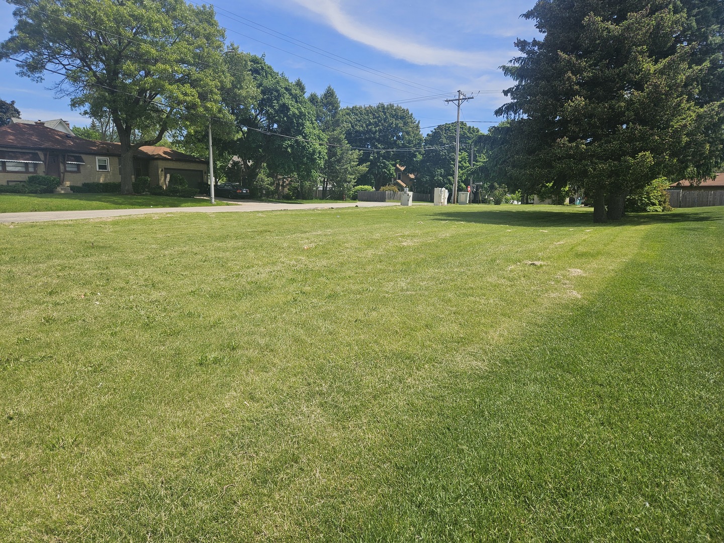
{"type": "MultiPolygon", "coordinates": [[[[65,122],[62,125],[67,127],[65,122]]],[[[23,182],[32,174],[59,177],[62,187],[120,182],[120,143],[85,140],[70,128],[58,127],[46,122],[0,127],[0,185],[23,182]]],[[[133,169],[134,178],[148,176],[152,185],[163,185],[174,173],[185,177],[190,187],[206,183],[206,161],[167,147],[141,147],[135,152],[133,169]]]]}

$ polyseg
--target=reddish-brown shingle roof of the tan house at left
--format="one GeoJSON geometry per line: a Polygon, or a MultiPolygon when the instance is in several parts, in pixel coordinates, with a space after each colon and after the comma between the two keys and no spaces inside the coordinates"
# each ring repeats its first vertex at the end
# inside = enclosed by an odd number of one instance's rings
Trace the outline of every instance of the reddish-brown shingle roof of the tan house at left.
{"type": "MultiPolygon", "coordinates": [[[[99,155],[121,155],[121,144],[110,141],[85,140],[77,136],[53,130],[44,125],[17,123],[0,127],[0,146],[39,151],[64,151],[99,155]]],[[[203,162],[195,156],[174,151],[168,147],[143,146],[135,156],[148,159],[183,160],[203,162]]]]}

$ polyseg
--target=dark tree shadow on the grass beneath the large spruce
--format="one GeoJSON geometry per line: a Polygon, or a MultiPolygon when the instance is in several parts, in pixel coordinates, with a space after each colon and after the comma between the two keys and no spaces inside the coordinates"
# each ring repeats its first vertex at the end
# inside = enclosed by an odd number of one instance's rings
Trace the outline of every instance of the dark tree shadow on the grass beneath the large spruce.
{"type": "Polygon", "coordinates": [[[531,209],[521,206],[516,209],[495,209],[494,206],[480,206],[479,210],[474,211],[470,208],[466,208],[466,211],[443,211],[434,220],[521,227],[620,227],[632,224],[721,221],[724,220],[724,207],[696,208],[691,211],[677,209],[670,213],[631,213],[620,221],[595,223],[592,208],[541,209],[536,206],[536,209],[531,209]]]}

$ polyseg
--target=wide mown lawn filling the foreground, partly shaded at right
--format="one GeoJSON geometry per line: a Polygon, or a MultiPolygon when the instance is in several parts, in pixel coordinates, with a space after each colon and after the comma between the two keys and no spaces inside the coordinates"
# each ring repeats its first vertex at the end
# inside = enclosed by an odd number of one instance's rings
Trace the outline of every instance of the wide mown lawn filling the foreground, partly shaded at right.
{"type": "Polygon", "coordinates": [[[1,539],[721,542],[723,249],[724,208],[0,225],[1,539]]]}

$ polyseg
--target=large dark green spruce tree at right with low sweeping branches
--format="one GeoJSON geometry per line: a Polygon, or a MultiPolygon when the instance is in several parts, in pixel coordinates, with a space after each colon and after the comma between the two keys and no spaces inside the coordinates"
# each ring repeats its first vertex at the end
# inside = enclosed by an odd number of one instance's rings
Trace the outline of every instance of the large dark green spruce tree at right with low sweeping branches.
{"type": "Polygon", "coordinates": [[[492,164],[582,186],[597,222],[620,218],[626,195],[657,177],[712,174],[723,143],[720,25],[697,26],[666,0],[539,0],[524,17],[544,38],[518,40],[523,55],[503,67],[518,83],[496,113],[512,119],[515,153],[501,147],[492,164]]]}

